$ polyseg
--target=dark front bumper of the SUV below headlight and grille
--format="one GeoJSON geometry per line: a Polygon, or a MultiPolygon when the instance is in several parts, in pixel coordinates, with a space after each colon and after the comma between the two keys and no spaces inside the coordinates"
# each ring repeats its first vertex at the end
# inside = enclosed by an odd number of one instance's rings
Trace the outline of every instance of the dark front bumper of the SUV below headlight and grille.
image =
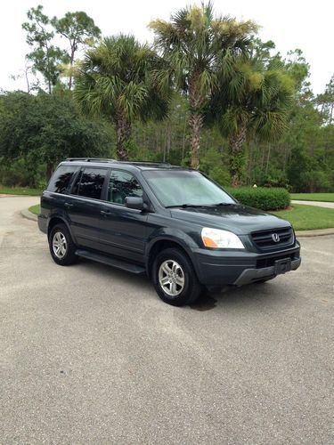
{"type": "Polygon", "coordinates": [[[192,258],[200,283],[208,287],[243,286],[278,274],[296,271],[300,266],[300,246],[257,254],[243,250],[192,250],[192,258]],[[287,267],[278,267],[288,264],[287,267]]]}

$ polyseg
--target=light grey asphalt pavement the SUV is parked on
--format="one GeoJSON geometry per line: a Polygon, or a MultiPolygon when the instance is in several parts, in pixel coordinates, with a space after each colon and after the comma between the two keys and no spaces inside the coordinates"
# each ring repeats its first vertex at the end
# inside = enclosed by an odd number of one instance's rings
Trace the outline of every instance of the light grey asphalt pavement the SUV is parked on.
{"type": "Polygon", "coordinates": [[[334,237],[295,272],[162,303],[150,282],[53,263],[0,198],[0,443],[334,443],[334,237]]]}

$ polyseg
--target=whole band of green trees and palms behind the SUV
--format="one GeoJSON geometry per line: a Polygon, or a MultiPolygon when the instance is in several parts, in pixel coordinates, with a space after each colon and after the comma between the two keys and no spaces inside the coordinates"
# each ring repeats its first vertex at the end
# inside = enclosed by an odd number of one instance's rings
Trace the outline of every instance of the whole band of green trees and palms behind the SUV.
{"type": "Polygon", "coordinates": [[[153,20],[149,45],[38,5],[22,27],[28,93],[0,95],[0,181],[20,179],[9,164],[26,163],[21,180],[36,185],[67,156],[115,156],[200,168],[233,187],[334,189],[334,80],[314,96],[302,52],[283,57],[254,22],[193,5],[153,20]]]}

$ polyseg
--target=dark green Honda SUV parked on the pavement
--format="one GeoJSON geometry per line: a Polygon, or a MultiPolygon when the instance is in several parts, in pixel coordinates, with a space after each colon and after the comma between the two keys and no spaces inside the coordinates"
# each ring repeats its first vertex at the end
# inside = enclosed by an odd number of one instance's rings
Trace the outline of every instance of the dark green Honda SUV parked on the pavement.
{"type": "Polygon", "coordinates": [[[168,164],[69,158],[43,192],[38,226],[55,263],[83,256],[146,273],[174,305],[204,287],[266,281],[300,265],[290,223],[168,164]]]}

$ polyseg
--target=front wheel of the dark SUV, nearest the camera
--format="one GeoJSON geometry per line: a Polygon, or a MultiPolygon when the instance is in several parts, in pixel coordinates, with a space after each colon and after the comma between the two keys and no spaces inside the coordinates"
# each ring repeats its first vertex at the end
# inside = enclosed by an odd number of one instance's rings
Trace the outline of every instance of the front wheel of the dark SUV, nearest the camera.
{"type": "Polygon", "coordinates": [[[167,248],[157,255],[152,279],[161,300],[173,306],[195,302],[202,291],[190,259],[177,248],[167,248]]]}

